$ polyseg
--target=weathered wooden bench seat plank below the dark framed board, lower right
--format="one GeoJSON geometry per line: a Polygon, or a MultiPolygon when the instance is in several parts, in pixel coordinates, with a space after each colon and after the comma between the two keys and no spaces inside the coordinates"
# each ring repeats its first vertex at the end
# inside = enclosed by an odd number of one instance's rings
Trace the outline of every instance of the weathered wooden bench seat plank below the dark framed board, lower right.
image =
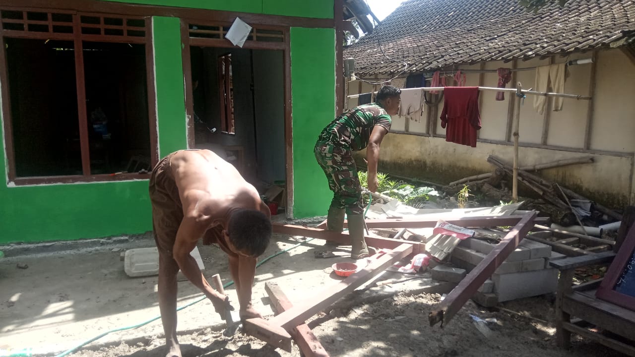
{"type": "Polygon", "coordinates": [[[600,328],[635,340],[635,311],[581,293],[564,297],[563,311],[600,328]]]}

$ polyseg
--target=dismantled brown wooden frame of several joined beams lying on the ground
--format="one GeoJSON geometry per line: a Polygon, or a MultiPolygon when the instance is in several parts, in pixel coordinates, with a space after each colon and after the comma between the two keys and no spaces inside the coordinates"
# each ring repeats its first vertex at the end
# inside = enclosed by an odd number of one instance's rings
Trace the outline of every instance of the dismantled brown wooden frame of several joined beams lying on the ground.
{"type": "MultiPolygon", "coordinates": [[[[440,307],[431,313],[429,316],[431,325],[441,321],[443,327],[443,323],[448,323],[448,321],[451,320],[452,316],[460,310],[465,302],[478,290],[479,286],[485,282],[488,276],[491,276],[493,271],[514,251],[525,234],[533,227],[533,221],[536,215],[537,213],[535,211],[530,211],[525,213],[525,215],[464,217],[462,219],[448,220],[448,222],[462,227],[514,227],[507,233],[507,236],[505,236],[501,243],[498,244],[497,248],[492,250],[492,252],[450,292],[440,307]]],[[[369,220],[366,224],[371,227],[403,228],[404,225],[406,225],[409,227],[424,228],[434,227],[438,220],[438,218],[420,220],[369,220]]],[[[319,228],[274,223],[273,231],[281,234],[326,239],[337,243],[350,243],[348,234],[319,228]]],[[[422,243],[404,241],[401,239],[366,237],[366,243],[369,246],[375,246],[377,248],[392,249],[392,252],[382,255],[377,260],[373,260],[368,266],[364,267],[364,269],[351,274],[351,276],[345,280],[335,285],[324,287],[321,292],[312,294],[314,296],[313,299],[290,307],[269,321],[265,321],[261,318],[246,320],[244,331],[274,346],[290,351],[291,335],[288,331],[295,333],[297,339],[305,338],[302,336],[298,337],[297,333],[293,330],[298,325],[302,326],[304,320],[318,313],[324,309],[324,307],[330,306],[358,286],[363,285],[364,282],[377,276],[395,262],[423,252],[425,249],[422,243]]]]}

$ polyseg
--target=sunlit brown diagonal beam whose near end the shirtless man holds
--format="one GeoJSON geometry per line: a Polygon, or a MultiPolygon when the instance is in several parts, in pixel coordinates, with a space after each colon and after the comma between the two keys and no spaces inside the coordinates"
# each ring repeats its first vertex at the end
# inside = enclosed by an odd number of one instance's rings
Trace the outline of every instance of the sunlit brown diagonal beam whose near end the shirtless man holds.
{"type": "Polygon", "coordinates": [[[377,260],[373,260],[368,266],[361,269],[357,273],[352,274],[339,283],[326,286],[321,292],[311,293],[312,298],[307,299],[304,303],[291,307],[284,313],[281,313],[269,321],[261,318],[253,318],[244,322],[244,332],[269,342],[274,346],[290,351],[291,335],[286,336],[281,330],[290,330],[296,327],[307,318],[322,311],[325,307],[330,306],[337,300],[341,299],[348,293],[352,292],[366,281],[371,280],[385,269],[392,266],[395,262],[408,256],[413,251],[413,245],[404,244],[394,248],[392,252],[386,253],[377,260]],[[281,337],[285,337],[281,339],[281,337]],[[288,348],[288,349],[287,349],[288,348]]]}

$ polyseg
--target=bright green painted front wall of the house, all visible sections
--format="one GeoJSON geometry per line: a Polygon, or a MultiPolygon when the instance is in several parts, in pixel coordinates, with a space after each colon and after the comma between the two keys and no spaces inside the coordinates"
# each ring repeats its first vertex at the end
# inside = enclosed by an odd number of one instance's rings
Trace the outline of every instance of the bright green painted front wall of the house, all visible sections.
{"type": "MultiPolygon", "coordinates": [[[[135,0],[126,3],[192,6],[275,15],[333,17],[333,1],[135,0]]],[[[158,151],[164,156],[187,147],[180,19],[154,17],[158,151]]],[[[326,212],[328,186],[315,175],[312,143],[335,115],[335,33],[333,29],[291,28],[293,83],[293,209],[296,217],[326,212]],[[307,144],[311,143],[311,144],[307,144]]],[[[0,118],[1,119],[1,118],[0,118]]],[[[152,118],[150,118],[152,120],[152,118]]],[[[4,139],[3,126],[0,135],[4,139]]],[[[0,244],[136,234],[152,229],[147,180],[18,186],[8,182],[0,145],[0,244]]]]}

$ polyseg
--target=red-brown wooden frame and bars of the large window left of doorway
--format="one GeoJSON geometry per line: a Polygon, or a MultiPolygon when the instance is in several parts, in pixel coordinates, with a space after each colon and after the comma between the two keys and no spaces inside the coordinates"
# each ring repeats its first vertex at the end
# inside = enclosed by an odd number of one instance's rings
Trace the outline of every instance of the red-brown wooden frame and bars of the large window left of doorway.
{"type": "MultiPolygon", "coordinates": [[[[150,17],[138,17],[128,15],[114,15],[109,13],[90,13],[80,11],[64,11],[50,8],[15,8],[10,6],[1,6],[0,11],[23,11],[24,22],[27,22],[27,12],[48,13],[48,25],[50,32],[30,32],[26,30],[4,30],[0,29],[0,46],[5,48],[6,38],[22,38],[22,39],[54,39],[63,41],[73,41],[75,49],[75,73],[77,87],[77,119],[79,121],[79,141],[81,147],[81,163],[82,175],[67,176],[42,176],[42,177],[17,177],[15,166],[15,150],[13,147],[13,127],[11,118],[11,100],[9,92],[8,64],[6,60],[6,51],[0,51],[0,89],[2,91],[2,118],[4,123],[4,140],[6,143],[5,154],[8,164],[8,181],[15,185],[36,185],[36,184],[67,184],[74,182],[108,182],[122,180],[149,179],[149,173],[121,173],[118,175],[100,174],[93,175],[90,172],[90,147],[88,138],[88,121],[86,112],[86,87],[84,79],[84,58],[83,58],[83,41],[102,42],[102,43],[135,43],[144,44],[145,46],[145,67],[147,81],[147,104],[148,104],[148,125],[150,129],[150,163],[152,166],[159,161],[159,152],[157,145],[157,122],[156,122],[156,93],[154,88],[154,49],[152,46],[152,24],[150,17]],[[51,32],[52,26],[51,14],[67,14],[72,16],[72,33],[51,32]],[[87,25],[81,22],[81,17],[100,17],[100,24],[87,25]],[[104,18],[123,18],[123,36],[106,35],[106,29],[112,29],[113,26],[104,24],[104,18]],[[144,22],[144,36],[126,36],[128,34],[127,20],[142,20],[144,22]],[[93,27],[99,29],[100,34],[82,34],[82,27],[93,27]]],[[[2,19],[0,18],[0,22],[2,19]]],[[[15,23],[15,21],[13,22],[15,23]]]]}

